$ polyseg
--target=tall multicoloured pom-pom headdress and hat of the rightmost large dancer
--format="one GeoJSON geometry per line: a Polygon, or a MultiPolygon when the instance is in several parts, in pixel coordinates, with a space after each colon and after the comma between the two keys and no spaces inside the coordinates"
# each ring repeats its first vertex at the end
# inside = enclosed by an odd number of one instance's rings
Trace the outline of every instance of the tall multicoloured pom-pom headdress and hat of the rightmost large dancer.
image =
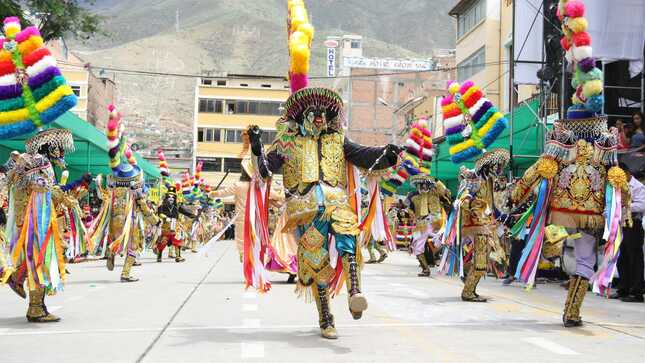
{"type": "Polygon", "coordinates": [[[560,0],[557,16],[562,22],[560,44],[565,58],[571,64],[575,89],[572,106],[567,110],[566,119],[560,122],[574,133],[577,139],[595,141],[607,132],[607,118],[600,115],[604,98],[602,71],[596,67],[591,48],[591,37],[587,33],[585,5],[581,0],[560,0]]]}

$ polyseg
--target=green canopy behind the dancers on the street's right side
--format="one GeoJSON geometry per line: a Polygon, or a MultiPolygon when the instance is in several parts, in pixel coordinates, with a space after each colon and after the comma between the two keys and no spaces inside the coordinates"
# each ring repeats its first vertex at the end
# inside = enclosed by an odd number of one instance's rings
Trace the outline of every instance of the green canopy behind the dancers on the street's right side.
{"type": "MultiPolygon", "coordinates": [[[[513,111],[513,156],[512,171],[514,176],[521,175],[530,167],[542,153],[544,147],[544,129],[540,125],[540,120],[536,115],[540,108],[538,100],[532,100],[527,104],[517,107],[513,111]]],[[[506,115],[510,123],[510,114],[506,115]]],[[[508,149],[510,144],[510,127],[507,128],[500,137],[489,147],[508,149]]],[[[432,160],[432,169],[430,174],[441,180],[453,194],[459,187],[458,175],[459,165],[450,161],[448,149],[450,145],[443,143],[435,150],[435,156],[432,160]]],[[[472,168],[474,162],[465,163],[466,167],[472,168]]],[[[407,195],[414,190],[409,181],[397,189],[397,194],[407,195]]]]}

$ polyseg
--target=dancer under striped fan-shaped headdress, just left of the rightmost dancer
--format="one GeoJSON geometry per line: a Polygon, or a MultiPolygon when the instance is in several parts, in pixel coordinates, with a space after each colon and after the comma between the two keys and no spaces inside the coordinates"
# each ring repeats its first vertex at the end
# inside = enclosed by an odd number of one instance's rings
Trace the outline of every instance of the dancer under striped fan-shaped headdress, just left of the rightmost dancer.
{"type": "Polygon", "coordinates": [[[504,131],[507,121],[473,82],[450,82],[448,91],[450,95],[442,100],[442,112],[451,159],[457,164],[479,160],[474,170],[465,166],[460,169],[459,191],[444,230],[439,270],[458,273],[464,279],[462,300],[485,302],[476,289],[486,275],[489,246],[497,238],[493,181],[510,159],[506,150],[487,152],[486,148],[504,131]],[[468,244],[471,249],[464,256],[468,244]]]}

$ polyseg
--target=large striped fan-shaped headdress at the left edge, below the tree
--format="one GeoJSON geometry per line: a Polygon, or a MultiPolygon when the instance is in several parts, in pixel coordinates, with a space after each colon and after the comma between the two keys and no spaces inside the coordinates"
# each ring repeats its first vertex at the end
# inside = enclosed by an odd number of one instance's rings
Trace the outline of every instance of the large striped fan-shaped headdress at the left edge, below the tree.
{"type": "Polygon", "coordinates": [[[38,28],[4,20],[0,36],[0,139],[27,134],[76,105],[76,96],[43,46],[38,28]]]}

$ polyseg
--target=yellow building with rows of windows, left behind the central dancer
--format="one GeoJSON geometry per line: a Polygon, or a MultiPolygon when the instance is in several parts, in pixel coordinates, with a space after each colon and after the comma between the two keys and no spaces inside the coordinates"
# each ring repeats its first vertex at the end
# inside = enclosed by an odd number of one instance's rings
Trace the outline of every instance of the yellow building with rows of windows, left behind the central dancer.
{"type": "Polygon", "coordinates": [[[195,92],[195,161],[204,163],[202,175],[220,188],[239,180],[242,131],[254,124],[264,130],[265,144],[276,135],[275,123],[289,97],[282,77],[226,75],[202,78],[195,92]]]}

